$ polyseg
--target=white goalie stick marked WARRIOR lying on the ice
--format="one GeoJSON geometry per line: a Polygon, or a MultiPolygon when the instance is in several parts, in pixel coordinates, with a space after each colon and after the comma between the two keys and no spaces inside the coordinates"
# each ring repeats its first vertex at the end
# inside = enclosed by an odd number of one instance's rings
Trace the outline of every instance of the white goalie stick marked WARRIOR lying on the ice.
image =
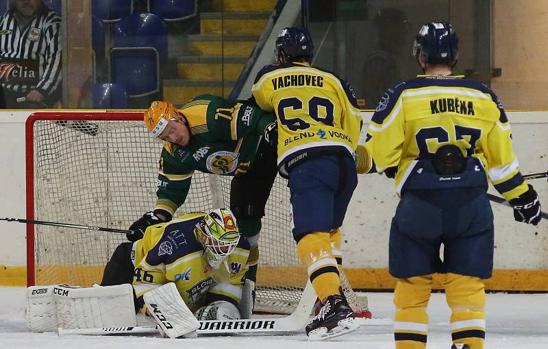
{"type": "MultiPolygon", "coordinates": [[[[299,332],[308,324],[308,319],[315,302],[316,292],[314,292],[309,281],[303,291],[301,300],[299,300],[297,309],[289,316],[245,320],[200,321],[200,328],[198,328],[197,333],[198,335],[207,335],[221,333],[299,332]]],[[[158,333],[158,329],[153,326],[58,329],[58,335],[135,335],[143,333],[158,333]]]]}

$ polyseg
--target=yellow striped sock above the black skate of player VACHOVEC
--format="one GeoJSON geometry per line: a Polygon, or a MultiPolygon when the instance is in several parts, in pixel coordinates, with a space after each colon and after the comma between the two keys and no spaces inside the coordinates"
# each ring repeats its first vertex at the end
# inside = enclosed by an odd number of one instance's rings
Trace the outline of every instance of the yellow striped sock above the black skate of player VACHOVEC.
{"type": "Polygon", "coordinates": [[[329,232],[310,232],[297,243],[299,259],[308,267],[308,278],[320,300],[340,294],[337,261],[331,253],[329,232]]]}

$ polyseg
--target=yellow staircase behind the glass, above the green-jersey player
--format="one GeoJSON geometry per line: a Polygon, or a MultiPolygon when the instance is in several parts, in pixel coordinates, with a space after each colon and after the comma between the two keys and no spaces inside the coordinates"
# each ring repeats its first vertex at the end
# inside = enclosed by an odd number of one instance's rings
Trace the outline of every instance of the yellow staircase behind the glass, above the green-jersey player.
{"type": "Polygon", "coordinates": [[[164,80],[164,99],[182,105],[203,93],[228,97],[277,0],[209,0],[200,34],[188,36],[177,79],[164,80]]]}

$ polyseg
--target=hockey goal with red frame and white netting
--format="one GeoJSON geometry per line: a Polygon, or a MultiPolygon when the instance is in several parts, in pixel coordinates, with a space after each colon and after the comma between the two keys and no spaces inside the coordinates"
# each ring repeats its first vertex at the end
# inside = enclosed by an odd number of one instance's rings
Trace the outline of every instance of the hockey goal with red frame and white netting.
{"type": "MultiPolygon", "coordinates": [[[[27,119],[27,219],[127,229],[155,204],[162,144],[142,112],[36,112],[27,119]]],[[[229,204],[229,177],[195,172],[177,214],[229,204]]],[[[306,285],[289,227],[289,193],[277,178],[260,234],[256,311],[292,313],[306,285]]],[[[177,215],[176,214],[176,215],[177,215]]],[[[125,234],[27,226],[27,283],[89,287],[125,234]]],[[[366,309],[345,276],[355,311],[366,309]]]]}

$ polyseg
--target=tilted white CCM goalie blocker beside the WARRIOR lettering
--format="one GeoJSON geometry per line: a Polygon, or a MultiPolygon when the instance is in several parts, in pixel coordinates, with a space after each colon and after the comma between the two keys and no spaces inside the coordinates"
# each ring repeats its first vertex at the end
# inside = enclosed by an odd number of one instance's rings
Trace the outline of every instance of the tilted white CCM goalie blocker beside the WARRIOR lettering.
{"type": "Polygon", "coordinates": [[[173,282],[151,289],[142,297],[149,313],[166,337],[196,337],[200,323],[184,304],[173,282]]]}

